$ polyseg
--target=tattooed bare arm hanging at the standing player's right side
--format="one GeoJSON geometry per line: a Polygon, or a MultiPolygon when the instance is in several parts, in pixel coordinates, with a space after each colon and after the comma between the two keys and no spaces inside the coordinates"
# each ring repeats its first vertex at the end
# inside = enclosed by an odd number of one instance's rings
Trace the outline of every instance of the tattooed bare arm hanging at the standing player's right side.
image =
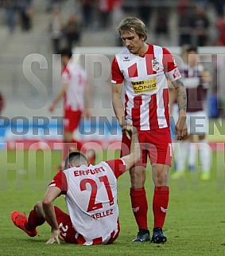
{"type": "Polygon", "coordinates": [[[179,108],[179,118],[175,126],[175,133],[177,140],[183,140],[188,135],[188,128],[186,124],[186,108],[187,108],[187,95],[184,84],[180,79],[173,81],[173,86],[176,89],[177,104],[179,108]]]}

